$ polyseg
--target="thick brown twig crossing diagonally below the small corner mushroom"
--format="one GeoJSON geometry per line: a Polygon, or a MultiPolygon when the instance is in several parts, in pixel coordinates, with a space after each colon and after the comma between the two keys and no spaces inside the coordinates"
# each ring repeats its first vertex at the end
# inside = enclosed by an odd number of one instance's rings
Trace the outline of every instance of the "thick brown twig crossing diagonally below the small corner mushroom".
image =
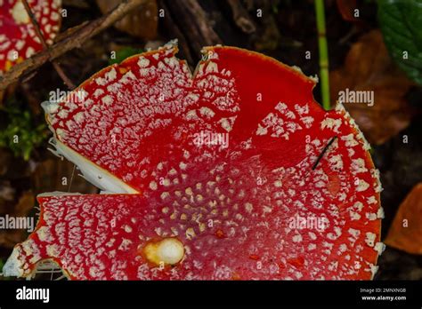
{"type": "Polygon", "coordinates": [[[109,28],[128,12],[131,12],[134,8],[145,2],[146,0],[125,0],[113,11],[110,11],[97,20],[93,20],[86,24],[85,27],[78,28],[71,36],[64,37],[61,41],[53,44],[46,50],[38,52],[33,57],[16,64],[3,76],[0,76],[0,91],[4,90],[10,83],[16,82],[20,78],[20,75],[28,74],[41,67],[46,61],[56,59],[63,53],[80,47],[86,40],[96,36],[105,28],[109,28]]]}

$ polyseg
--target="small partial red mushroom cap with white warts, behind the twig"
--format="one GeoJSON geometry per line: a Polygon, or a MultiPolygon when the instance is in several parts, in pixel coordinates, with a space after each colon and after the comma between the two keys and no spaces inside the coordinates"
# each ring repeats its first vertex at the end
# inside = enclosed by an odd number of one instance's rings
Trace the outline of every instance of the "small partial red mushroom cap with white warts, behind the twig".
{"type": "MultiPolygon", "coordinates": [[[[28,0],[47,44],[59,31],[61,0],[28,0]]],[[[0,75],[43,49],[21,0],[0,1],[0,75]]]]}

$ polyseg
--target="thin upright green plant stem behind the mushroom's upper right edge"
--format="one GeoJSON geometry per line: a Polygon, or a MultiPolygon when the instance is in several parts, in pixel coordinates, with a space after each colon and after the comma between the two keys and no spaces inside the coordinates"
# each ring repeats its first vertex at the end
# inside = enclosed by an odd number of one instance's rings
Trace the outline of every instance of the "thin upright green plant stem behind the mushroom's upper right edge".
{"type": "Polygon", "coordinates": [[[324,0],[315,0],[315,14],[318,29],[318,47],[320,51],[320,80],[322,107],[329,110],[329,48],[325,36],[324,0]]]}

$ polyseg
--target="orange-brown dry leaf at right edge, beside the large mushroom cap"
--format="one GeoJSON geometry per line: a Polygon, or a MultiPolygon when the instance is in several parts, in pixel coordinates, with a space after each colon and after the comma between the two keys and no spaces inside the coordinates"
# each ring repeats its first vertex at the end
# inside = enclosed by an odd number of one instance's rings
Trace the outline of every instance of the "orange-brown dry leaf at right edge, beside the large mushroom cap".
{"type": "Polygon", "coordinates": [[[385,243],[413,254],[422,254],[422,183],[413,187],[400,205],[385,243]]]}

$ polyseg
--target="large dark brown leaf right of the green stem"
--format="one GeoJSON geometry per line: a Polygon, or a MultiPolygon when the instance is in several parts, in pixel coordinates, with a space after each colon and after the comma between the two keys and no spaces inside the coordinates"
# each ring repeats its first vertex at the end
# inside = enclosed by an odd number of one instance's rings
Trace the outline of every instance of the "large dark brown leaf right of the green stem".
{"type": "Polygon", "coordinates": [[[345,103],[369,142],[383,144],[410,123],[404,98],[413,83],[394,65],[379,30],[372,30],[353,44],[344,67],[330,72],[331,99],[339,91],[374,91],[374,105],[345,103]]]}

